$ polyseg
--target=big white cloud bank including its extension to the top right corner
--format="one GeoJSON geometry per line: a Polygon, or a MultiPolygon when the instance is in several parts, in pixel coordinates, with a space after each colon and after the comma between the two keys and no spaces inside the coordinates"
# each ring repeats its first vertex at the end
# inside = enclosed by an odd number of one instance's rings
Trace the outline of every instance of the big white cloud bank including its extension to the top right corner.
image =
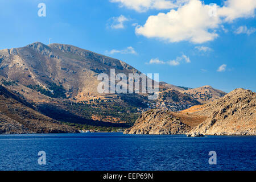
{"type": "Polygon", "coordinates": [[[177,10],[149,16],[143,26],[135,28],[135,32],[168,42],[204,43],[218,37],[216,29],[222,27],[222,23],[253,17],[255,8],[255,0],[227,0],[223,7],[191,0],[177,10]]]}

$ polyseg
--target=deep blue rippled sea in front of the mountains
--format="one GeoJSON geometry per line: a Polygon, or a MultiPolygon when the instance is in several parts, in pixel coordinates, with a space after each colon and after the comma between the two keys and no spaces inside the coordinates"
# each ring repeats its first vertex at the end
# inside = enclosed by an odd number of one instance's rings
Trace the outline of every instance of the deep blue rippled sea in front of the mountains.
{"type": "Polygon", "coordinates": [[[256,137],[0,135],[0,170],[255,170],[256,137]],[[46,164],[39,165],[39,151],[46,164]],[[217,164],[209,164],[209,151],[217,164]]]}

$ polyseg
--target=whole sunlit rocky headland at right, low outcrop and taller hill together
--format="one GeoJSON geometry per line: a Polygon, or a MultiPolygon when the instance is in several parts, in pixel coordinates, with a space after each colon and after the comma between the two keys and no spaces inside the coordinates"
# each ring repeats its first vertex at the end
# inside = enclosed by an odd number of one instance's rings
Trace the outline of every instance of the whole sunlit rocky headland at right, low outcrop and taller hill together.
{"type": "Polygon", "coordinates": [[[236,89],[177,113],[150,110],[125,134],[256,135],[256,93],[236,89]]]}

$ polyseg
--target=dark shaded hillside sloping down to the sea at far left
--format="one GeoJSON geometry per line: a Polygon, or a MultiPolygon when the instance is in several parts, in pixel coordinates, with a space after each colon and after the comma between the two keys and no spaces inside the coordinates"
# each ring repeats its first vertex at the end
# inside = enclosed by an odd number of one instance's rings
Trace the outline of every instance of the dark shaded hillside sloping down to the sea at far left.
{"type": "Polygon", "coordinates": [[[0,134],[77,132],[38,113],[24,98],[0,85],[0,134]]]}

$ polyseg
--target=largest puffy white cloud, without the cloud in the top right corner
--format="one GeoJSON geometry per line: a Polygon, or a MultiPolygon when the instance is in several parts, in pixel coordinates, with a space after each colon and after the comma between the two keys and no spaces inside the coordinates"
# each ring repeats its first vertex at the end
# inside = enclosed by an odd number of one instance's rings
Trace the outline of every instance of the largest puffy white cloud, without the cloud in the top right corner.
{"type": "Polygon", "coordinates": [[[147,38],[160,38],[168,42],[207,42],[218,36],[216,32],[208,30],[217,28],[220,23],[217,16],[209,16],[210,8],[199,0],[192,0],[167,14],[148,17],[144,26],[137,26],[135,32],[147,38]]]}

